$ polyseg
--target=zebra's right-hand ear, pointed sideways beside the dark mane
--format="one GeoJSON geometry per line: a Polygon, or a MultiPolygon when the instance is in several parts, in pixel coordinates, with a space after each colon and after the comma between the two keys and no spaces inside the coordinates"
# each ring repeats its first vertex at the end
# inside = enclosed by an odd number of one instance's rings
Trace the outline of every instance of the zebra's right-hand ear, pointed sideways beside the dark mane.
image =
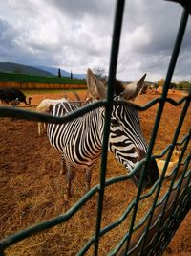
{"type": "Polygon", "coordinates": [[[132,82],[130,84],[124,84],[125,90],[122,93],[122,97],[125,100],[132,100],[134,101],[136,97],[138,96],[138,93],[143,87],[144,80],[146,78],[146,73],[139,79],[138,81],[132,82]]]}

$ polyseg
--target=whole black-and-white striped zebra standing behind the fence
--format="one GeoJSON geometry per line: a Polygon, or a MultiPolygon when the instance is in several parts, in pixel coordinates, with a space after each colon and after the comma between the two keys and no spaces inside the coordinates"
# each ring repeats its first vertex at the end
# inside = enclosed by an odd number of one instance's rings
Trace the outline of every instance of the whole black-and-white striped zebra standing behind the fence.
{"type": "MultiPolygon", "coordinates": [[[[129,89],[120,81],[115,83],[114,100],[134,100],[135,94],[141,89],[146,74],[138,81],[131,84],[135,93],[129,93],[129,89]]],[[[98,80],[91,69],[87,70],[87,87],[93,99],[106,97],[106,86],[98,80]]],[[[77,107],[71,103],[63,102],[53,105],[53,116],[64,116],[77,107]]],[[[64,124],[49,123],[47,135],[51,145],[62,153],[66,163],[67,193],[71,197],[71,185],[74,178],[74,169],[85,171],[86,191],[91,187],[92,170],[101,155],[103,130],[105,119],[105,107],[97,107],[94,110],[79,116],[73,121],[64,124]]],[[[138,119],[138,111],[133,105],[113,105],[111,114],[111,126],[108,150],[111,151],[117,161],[128,172],[131,172],[140,160],[146,156],[148,144],[142,135],[138,119]]],[[[155,159],[148,163],[143,187],[150,188],[159,177],[159,170],[155,159]]],[[[138,186],[142,167],[133,175],[133,181],[138,186]]]]}

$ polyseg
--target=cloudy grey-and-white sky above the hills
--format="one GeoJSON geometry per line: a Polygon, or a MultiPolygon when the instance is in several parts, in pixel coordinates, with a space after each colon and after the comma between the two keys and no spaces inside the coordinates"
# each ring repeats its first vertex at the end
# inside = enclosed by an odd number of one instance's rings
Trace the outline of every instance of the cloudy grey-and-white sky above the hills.
{"type": "MultiPolygon", "coordinates": [[[[0,62],[108,73],[116,0],[0,0],[0,6],[0,62]]],[[[164,0],[126,1],[118,79],[165,77],[181,13],[164,0]]],[[[173,81],[183,79],[191,80],[191,20],[173,81]]]]}

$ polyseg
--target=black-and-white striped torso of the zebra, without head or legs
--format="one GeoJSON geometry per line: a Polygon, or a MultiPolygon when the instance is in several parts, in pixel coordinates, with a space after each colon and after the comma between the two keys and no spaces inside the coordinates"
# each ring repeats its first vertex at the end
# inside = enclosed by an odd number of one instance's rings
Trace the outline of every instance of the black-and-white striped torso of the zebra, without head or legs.
{"type": "MultiPolygon", "coordinates": [[[[53,107],[54,116],[64,116],[77,107],[60,103],[53,107]]],[[[63,153],[64,159],[75,168],[91,168],[101,153],[103,119],[97,108],[72,122],[48,125],[48,137],[52,146],[63,153]],[[94,118],[93,118],[94,115],[94,118]]]]}

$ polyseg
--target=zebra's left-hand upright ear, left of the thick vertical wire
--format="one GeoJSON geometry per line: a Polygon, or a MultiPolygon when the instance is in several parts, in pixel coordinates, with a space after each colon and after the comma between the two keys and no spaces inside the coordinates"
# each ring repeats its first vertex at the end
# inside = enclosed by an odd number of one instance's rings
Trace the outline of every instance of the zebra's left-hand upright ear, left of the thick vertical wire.
{"type": "Polygon", "coordinates": [[[89,93],[94,99],[106,98],[106,88],[104,84],[96,78],[90,68],[87,70],[87,87],[89,93]]]}

